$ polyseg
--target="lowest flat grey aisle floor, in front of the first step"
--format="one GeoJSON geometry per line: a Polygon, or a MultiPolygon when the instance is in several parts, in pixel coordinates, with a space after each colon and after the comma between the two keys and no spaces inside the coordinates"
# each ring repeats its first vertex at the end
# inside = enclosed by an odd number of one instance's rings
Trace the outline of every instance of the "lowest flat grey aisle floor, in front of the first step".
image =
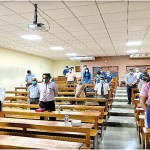
{"type": "Polygon", "coordinates": [[[136,128],[107,127],[99,149],[140,149],[136,128]]]}

